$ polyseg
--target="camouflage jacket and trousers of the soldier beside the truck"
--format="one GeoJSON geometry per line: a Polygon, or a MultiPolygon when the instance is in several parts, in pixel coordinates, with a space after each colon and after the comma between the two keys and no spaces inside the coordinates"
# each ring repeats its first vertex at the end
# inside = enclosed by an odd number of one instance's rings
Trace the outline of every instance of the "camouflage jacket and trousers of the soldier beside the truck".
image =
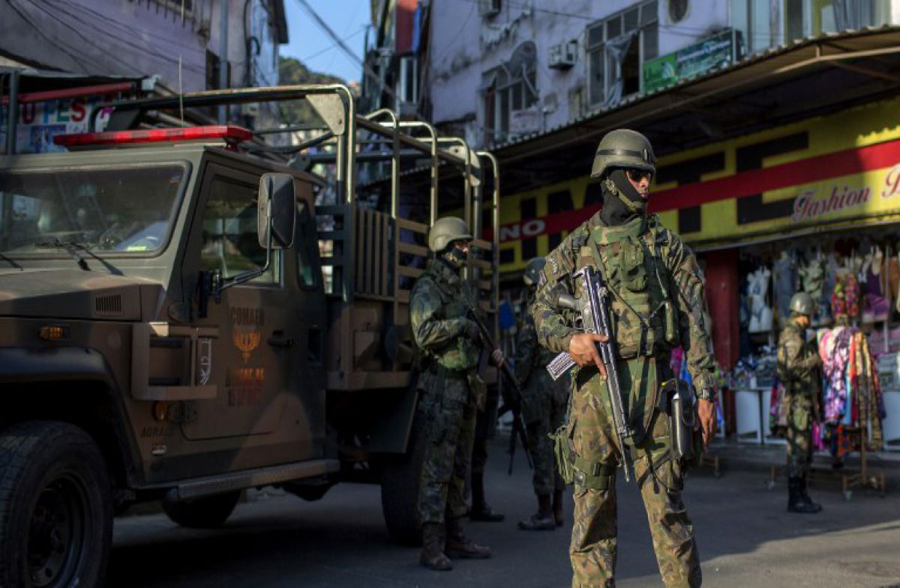
{"type": "Polygon", "coordinates": [[[440,260],[416,281],[410,324],[425,365],[419,374],[421,417],[428,444],[419,480],[419,521],[443,523],[464,516],[465,477],[475,431],[481,343],[466,335],[471,289],[440,260]],[[475,388],[475,389],[473,389],[475,388]]]}

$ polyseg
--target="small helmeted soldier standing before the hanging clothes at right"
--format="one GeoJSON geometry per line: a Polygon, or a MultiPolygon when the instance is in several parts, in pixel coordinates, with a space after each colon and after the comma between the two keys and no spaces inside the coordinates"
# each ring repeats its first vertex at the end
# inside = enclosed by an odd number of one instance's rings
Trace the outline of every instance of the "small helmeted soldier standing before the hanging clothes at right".
{"type": "MultiPolygon", "coordinates": [[[[779,335],[779,380],[785,387],[788,428],[788,512],[812,514],[822,505],[806,494],[806,476],[813,459],[813,421],[819,412],[822,361],[815,343],[806,342],[806,329],[815,302],[806,292],[790,300],[790,321],[779,335]]],[[[815,340],[814,340],[815,341],[815,340]]]]}

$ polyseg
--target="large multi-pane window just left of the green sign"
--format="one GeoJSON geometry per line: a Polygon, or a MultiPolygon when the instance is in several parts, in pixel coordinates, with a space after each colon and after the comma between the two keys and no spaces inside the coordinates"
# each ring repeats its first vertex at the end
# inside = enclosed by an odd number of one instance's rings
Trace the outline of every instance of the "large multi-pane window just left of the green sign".
{"type": "Polygon", "coordinates": [[[635,4],[585,31],[588,64],[588,102],[607,103],[614,85],[621,80],[621,96],[641,91],[641,67],[659,54],[659,4],[657,0],[635,4]],[[621,49],[626,40],[625,54],[621,49]]]}

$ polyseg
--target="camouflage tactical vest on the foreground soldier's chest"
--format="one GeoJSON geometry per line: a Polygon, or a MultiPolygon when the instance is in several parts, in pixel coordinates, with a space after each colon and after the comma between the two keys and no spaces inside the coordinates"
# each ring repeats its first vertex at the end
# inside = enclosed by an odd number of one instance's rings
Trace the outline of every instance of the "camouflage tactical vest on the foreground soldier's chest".
{"type": "Polygon", "coordinates": [[[659,218],[651,215],[617,227],[590,227],[590,236],[580,244],[577,268],[593,265],[608,283],[613,335],[624,360],[680,344],[674,292],[660,251],[664,241],[659,218]]]}

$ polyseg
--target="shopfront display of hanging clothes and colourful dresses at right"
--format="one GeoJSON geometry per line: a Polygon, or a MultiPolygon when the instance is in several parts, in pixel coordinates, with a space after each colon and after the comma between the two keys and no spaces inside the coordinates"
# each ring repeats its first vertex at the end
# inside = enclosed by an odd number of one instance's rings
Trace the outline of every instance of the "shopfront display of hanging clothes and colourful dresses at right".
{"type": "Polygon", "coordinates": [[[851,451],[900,450],[900,242],[896,228],[868,235],[815,236],[751,245],[739,252],[741,359],[730,388],[757,391],[756,437],[775,441],[784,420],[775,375],[778,332],[795,292],[816,301],[812,320],[823,360],[821,422],[815,447],[835,465],[851,451]],[[893,413],[895,414],[892,414],[893,413]]]}

